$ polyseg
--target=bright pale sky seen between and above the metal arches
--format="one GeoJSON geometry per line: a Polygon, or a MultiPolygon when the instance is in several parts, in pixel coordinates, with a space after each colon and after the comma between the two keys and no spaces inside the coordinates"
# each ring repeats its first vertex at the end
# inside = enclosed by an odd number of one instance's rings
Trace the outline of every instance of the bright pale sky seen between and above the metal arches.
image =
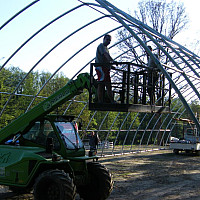
{"type": "MultiPolygon", "coordinates": [[[[139,0],[109,0],[110,3],[125,12],[131,12],[137,8],[139,0]]],[[[171,1],[171,0],[169,0],[171,1]]],[[[200,19],[199,0],[176,0],[184,2],[186,12],[190,19],[188,30],[184,31],[177,39],[182,45],[185,42],[191,42],[200,37],[200,27],[198,26],[200,19]]],[[[22,8],[33,2],[33,0],[0,0],[0,26],[2,26],[14,14],[22,8]]],[[[87,2],[93,2],[89,0],[87,2]]],[[[40,0],[20,14],[8,25],[0,30],[0,65],[5,61],[34,33],[51,20],[55,19],[62,13],[79,5],[78,0],[40,0]]],[[[70,14],[62,17],[48,26],[44,31],[40,32],[7,63],[7,67],[16,66],[23,71],[28,72],[37,61],[42,58],[52,47],[60,42],[63,38],[70,35],[77,28],[100,17],[101,15],[90,9],[80,8],[70,14]]],[[[67,77],[72,77],[78,70],[79,66],[84,65],[90,59],[94,58],[96,46],[101,42],[99,39],[94,44],[85,48],[82,53],[75,57],[80,48],[84,47],[90,41],[95,39],[97,35],[103,34],[106,30],[116,27],[117,24],[109,19],[102,20],[97,25],[91,25],[81,30],[78,34],[65,40],[54,51],[46,56],[35,68],[35,70],[54,73],[58,68],[62,67],[62,71],[67,77]],[[72,58],[71,58],[72,57],[72,58]],[[69,60],[66,65],[63,65],[69,60]]],[[[115,37],[113,37],[115,42],[115,37]]],[[[88,69],[86,69],[87,71],[88,69]]]]}

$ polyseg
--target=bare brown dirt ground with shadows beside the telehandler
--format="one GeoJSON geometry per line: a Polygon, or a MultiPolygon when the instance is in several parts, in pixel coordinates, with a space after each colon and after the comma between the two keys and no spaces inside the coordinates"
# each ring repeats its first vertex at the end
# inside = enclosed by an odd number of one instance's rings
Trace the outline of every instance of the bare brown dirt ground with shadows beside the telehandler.
{"type": "MultiPolygon", "coordinates": [[[[101,158],[114,178],[108,200],[199,200],[200,157],[153,151],[101,158]]],[[[6,188],[1,188],[2,193],[6,188]]],[[[0,199],[33,199],[21,195],[0,199]]],[[[76,200],[80,198],[77,196],[76,200]]],[[[95,199],[94,199],[95,200],[95,199]]]]}

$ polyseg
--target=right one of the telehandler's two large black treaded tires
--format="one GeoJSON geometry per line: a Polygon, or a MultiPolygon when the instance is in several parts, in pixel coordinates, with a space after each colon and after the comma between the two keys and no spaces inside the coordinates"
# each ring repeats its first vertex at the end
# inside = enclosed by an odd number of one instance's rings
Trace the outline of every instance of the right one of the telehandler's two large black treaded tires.
{"type": "Polygon", "coordinates": [[[107,199],[113,190],[113,180],[108,169],[98,162],[87,163],[89,182],[77,188],[81,198],[85,200],[107,199]]]}

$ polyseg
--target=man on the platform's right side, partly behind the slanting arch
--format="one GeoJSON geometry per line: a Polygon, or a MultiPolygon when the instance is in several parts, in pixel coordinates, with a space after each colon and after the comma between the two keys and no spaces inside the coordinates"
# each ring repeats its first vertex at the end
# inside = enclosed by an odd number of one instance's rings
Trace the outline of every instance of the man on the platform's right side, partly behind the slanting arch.
{"type": "MultiPolygon", "coordinates": [[[[148,46],[148,48],[152,51],[152,47],[148,46]]],[[[158,55],[154,54],[154,56],[158,59],[158,55]]],[[[155,103],[155,87],[156,83],[158,82],[159,78],[159,69],[154,62],[154,60],[147,54],[147,60],[148,60],[148,77],[147,77],[147,82],[148,82],[148,87],[147,87],[147,92],[150,97],[150,105],[155,103]]]]}

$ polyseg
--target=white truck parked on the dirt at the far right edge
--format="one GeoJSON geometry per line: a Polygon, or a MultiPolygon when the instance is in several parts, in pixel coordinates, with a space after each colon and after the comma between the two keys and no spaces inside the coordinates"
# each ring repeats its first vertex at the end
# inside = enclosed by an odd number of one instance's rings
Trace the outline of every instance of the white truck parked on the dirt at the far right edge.
{"type": "Polygon", "coordinates": [[[187,122],[183,129],[183,138],[171,137],[170,149],[175,154],[186,152],[200,155],[200,137],[195,124],[188,119],[179,120],[187,122]]]}

